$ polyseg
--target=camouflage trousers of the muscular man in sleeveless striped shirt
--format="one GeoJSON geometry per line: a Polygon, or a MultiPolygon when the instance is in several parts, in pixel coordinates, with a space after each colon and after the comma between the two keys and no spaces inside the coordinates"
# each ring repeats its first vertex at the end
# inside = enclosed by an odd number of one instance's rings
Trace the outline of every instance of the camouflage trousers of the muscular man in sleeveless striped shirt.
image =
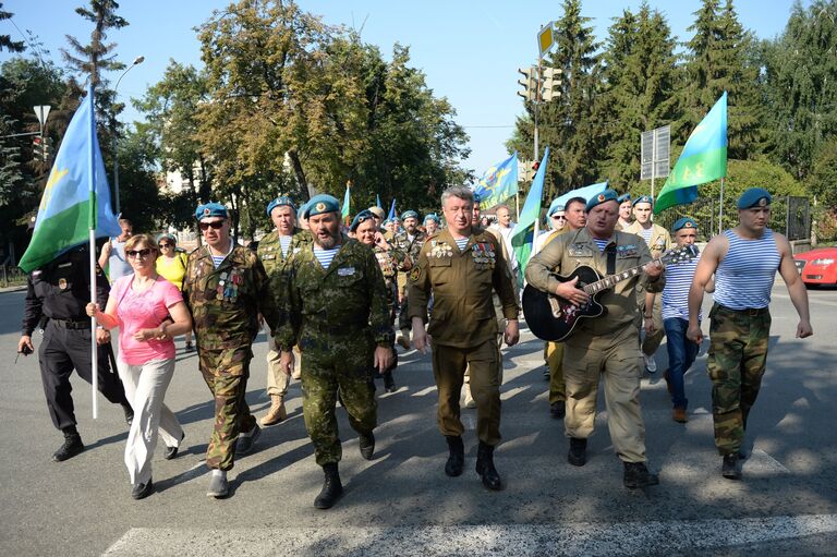
{"type": "Polygon", "coordinates": [[[759,396],[771,334],[771,313],[729,310],[715,304],[709,313],[706,371],[712,379],[715,446],[721,455],[741,448],[747,417],[759,396]]]}

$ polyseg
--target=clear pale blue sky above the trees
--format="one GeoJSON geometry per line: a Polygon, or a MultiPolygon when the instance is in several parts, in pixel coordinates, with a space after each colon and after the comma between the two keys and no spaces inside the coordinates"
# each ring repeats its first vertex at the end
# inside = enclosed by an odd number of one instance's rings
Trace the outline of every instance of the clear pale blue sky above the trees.
{"type": "MultiPolygon", "coordinates": [[[[392,45],[410,47],[412,65],[426,74],[436,96],[447,97],[457,110],[456,120],[470,136],[471,155],[463,161],[477,175],[506,158],[505,142],[512,133],[515,117],[523,112],[517,95],[518,68],[536,63],[537,32],[561,16],[559,0],[298,0],[300,7],[320,15],[331,25],[360,29],[364,41],[377,45],[387,58],[392,45]]],[[[781,34],[793,0],[737,0],[739,20],[759,38],[781,34]]],[[[146,87],[163,75],[170,59],[202,65],[194,28],[222,9],[221,0],[121,0],[119,14],[130,23],[111,31],[118,58],[130,64],[137,56],[145,61],[122,78],[119,100],[142,97],[146,87]]],[[[582,14],[591,19],[598,40],[607,37],[614,17],[628,8],[636,11],[640,0],[584,0],[582,14]]],[[[810,0],[804,0],[808,5],[810,0]]],[[[0,21],[0,34],[22,39],[31,31],[49,51],[48,58],[62,65],[60,48],[65,35],[82,44],[89,40],[90,23],[74,12],[82,0],[3,0],[12,22],[0,21]]],[[[650,0],[663,12],[678,40],[688,40],[687,31],[700,0],[650,0]]],[[[0,53],[0,62],[10,58],[0,53]]],[[[110,76],[112,83],[119,74],[110,76]]],[[[708,110],[709,107],[707,107],[708,110]]],[[[130,107],[122,120],[142,114],[130,107]]],[[[531,158],[531,154],[521,154],[531,158]]]]}

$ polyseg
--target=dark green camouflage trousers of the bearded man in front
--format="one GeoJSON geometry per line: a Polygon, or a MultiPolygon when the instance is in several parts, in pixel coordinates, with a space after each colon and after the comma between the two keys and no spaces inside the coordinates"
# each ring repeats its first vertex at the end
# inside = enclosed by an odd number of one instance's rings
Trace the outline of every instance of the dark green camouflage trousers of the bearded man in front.
{"type": "Polygon", "coordinates": [[[314,445],[317,464],[337,463],[343,455],[335,415],[338,389],[349,414],[349,425],[369,434],[378,423],[373,382],[374,342],[365,335],[330,336],[300,341],[302,360],[302,411],[314,445]]]}

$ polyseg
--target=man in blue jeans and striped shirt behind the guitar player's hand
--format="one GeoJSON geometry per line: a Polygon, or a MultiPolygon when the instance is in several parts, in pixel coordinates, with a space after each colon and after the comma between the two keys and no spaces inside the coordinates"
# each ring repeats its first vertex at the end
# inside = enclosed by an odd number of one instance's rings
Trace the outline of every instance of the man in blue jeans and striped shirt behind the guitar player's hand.
{"type": "MultiPolygon", "coordinates": [[[[683,217],[671,227],[675,234],[677,247],[694,245],[698,241],[698,223],[694,219],[683,217]]],[[[692,286],[694,269],[698,266],[700,255],[692,259],[683,261],[666,268],[666,288],[663,290],[663,327],[666,330],[666,348],[668,350],[668,371],[663,374],[668,387],[668,393],[671,396],[674,410],[671,419],[675,422],[684,424],[688,421],[686,409],[689,399],[686,398],[686,386],[683,376],[689,367],[694,363],[700,348],[694,342],[686,338],[686,330],[689,327],[689,288],[692,286]]],[[[709,280],[706,284],[706,292],[715,290],[715,282],[709,280]]],[[[645,307],[654,305],[652,292],[645,293],[645,307]]],[[[698,319],[702,315],[698,314],[698,319]]],[[[654,332],[654,323],[651,319],[645,320],[645,332],[654,332]]]]}

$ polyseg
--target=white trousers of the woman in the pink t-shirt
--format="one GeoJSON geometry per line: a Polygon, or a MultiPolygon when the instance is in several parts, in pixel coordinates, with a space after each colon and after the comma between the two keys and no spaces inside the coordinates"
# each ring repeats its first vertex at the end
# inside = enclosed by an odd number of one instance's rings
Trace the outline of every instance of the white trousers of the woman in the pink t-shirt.
{"type": "Polygon", "coordinates": [[[178,419],[162,402],[174,375],[174,359],[153,360],[143,365],[129,365],[118,360],[117,367],[125,397],[134,409],[134,422],[125,445],[125,467],[132,484],[144,484],[151,479],[151,457],[157,447],[158,429],[167,447],[179,447],[183,437],[178,419]]]}

